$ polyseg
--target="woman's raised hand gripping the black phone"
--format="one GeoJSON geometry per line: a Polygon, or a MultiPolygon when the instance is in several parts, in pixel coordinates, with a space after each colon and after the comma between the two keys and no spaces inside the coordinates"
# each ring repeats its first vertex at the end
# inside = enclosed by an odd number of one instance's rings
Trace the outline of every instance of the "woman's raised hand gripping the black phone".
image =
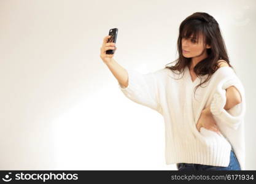
{"type": "Polygon", "coordinates": [[[115,43],[114,42],[109,42],[107,43],[107,39],[109,39],[111,36],[106,36],[103,39],[103,45],[101,47],[101,55],[99,55],[101,57],[101,59],[103,59],[104,63],[108,63],[111,61],[111,59],[113,58],[114,54],[112,55],[107,55],[106,51],[107,50],[117,50],[117,47],[115,47],[115,43]]]}

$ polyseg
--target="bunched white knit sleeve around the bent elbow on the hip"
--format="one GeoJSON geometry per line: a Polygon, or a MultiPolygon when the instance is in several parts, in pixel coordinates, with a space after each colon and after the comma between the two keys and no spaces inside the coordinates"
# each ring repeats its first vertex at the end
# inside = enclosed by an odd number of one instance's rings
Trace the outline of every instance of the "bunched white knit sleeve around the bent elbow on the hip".
{"type": "Polygon", "coordinates": [[[246,112],[246,99],[244,88],[238,77],[233,76],[230,79],[222,80],[218,85],[211,101],[211,113],[215,121],[226,123],[230,128],[237,129],[241,124],[242,118],[246,112]],[[241,94],[241,103],[235,105],[231,109],[225,110],[226,89],[230,86],[235,88],[241,94]]]}

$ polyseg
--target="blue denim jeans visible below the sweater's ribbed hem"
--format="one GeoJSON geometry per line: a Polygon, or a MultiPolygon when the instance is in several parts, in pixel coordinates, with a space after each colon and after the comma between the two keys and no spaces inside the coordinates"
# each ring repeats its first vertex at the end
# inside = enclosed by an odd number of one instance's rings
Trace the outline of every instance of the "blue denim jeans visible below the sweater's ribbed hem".
{"type": "Polygon", "coordinates": [[[178,163],[179,171],[223,171],[223,170],[241,170],[238,159],[233,150],[230,151],[230,164],[227,167],[209,166],[201,164],[178,163]]]}

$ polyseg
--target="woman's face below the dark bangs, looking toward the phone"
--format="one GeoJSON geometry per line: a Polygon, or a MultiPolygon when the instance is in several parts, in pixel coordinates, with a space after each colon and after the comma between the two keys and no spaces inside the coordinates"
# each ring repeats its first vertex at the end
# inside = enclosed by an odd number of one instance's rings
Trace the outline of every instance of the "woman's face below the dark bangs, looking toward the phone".
{"type": "Polygon", "coordinates": [[[200,35],[197,40],[193,39],[193,35],[189,39],[185,39],[182,37],[181,44],[182,44],[182,55],[185,58],[194,58],[196,56],[202,55],[206,52],[206,48],[211,48],[209,45],[204,47],[202,36],[200,35]]]}

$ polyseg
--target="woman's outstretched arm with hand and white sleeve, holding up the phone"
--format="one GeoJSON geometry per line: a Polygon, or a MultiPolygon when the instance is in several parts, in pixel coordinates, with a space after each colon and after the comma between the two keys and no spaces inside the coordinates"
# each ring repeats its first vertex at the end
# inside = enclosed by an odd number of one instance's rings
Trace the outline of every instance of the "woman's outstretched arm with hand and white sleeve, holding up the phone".
{"type": "Polygon", "coordinates": [[[106,50],[116,50],[115,43],[107,43],[109,37],[104,37],[103,47],[101,47],[101,59],[107,65],[114,77],[118,80],[118,86],[123,94],[131,101],[150,107],[162,113],[158,98],[157,72],[141,74],[133,69],[125,69],[118,64],[113,55],[106,55],[106,50]]]}

